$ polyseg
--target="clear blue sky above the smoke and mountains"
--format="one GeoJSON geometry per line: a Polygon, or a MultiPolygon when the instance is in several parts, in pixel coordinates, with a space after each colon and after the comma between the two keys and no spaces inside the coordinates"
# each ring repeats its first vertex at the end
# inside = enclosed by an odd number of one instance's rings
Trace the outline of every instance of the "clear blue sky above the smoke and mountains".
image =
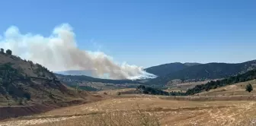
{"type": "Polygon", "coordinates": [[[49,36],[68,23],[80,49],[145,68],[256,59],[255,0],[2,0],[0,15],[2,33],[49,36]]]}

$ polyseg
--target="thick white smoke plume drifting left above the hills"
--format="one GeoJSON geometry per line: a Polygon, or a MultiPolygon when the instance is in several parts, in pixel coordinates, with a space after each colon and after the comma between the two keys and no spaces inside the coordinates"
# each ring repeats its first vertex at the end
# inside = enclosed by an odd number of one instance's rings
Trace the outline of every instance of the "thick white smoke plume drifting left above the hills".
{"type": "Polygon", "coordinates": [[[54,28],[48,36],[21,34],[18,27],[9,27],[0,36],[0,48],[11,49],[14,55],[37,62],[51,71],[90,70],[94,76],[108,74],[110,79],[137,79],[155,77],[136,65],[119,65],[104,52],[78,49],[75,33],[69,24],[54,28]]]}

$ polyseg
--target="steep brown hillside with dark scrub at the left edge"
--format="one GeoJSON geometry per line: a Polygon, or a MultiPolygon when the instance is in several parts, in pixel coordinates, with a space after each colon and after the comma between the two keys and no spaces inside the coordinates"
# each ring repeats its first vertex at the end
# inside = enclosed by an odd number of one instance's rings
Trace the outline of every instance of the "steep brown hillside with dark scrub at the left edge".
{"type": "Polygon", "coordinates": [[[0,52],[0,119],[94,99],[100,98],[66,87],[42,65],[0,52]]]}

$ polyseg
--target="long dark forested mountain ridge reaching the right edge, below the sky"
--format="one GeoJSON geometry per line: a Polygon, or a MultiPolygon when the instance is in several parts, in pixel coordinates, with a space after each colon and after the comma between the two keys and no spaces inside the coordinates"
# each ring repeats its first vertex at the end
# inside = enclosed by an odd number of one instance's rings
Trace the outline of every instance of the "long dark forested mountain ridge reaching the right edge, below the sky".
{"type": "MultiPolygon", "coordinates": [[[[238,64],[227,63],[208,63],[200,65],[192,65],[190,67],[176,68],[170,74],[156,77],[149,81],[153,84],[164,85],[174,79],[217,79],[222,77],[230,77],[236,74],[242,74],[256,68],[256,60],[246,61],[238,64]],[[178,69],[181,69],[178,71],[178,69]]],[[[169,69],[166,68],[166,71],[169,69]]],[[[164,69],[162,69],[164,71],[164,69]]],[[[170,71],[170,70],[169,70],[170,71]]],[[[167,73],[167,72],[165,72],[167,73]]]]}

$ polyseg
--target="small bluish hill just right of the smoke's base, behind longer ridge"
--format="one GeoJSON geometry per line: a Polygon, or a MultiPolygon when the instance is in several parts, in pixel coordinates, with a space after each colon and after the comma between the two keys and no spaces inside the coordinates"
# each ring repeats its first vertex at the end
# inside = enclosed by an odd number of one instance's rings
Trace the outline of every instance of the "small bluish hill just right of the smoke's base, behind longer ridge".
{"type": "Polygon", "coordinates": [[[151,74],[155,74],[157,76],[165,76],[167,74],[174,73],[176,71],[180,71],[184,68],[188,68],[190,66],[194,65],[200,65],[200,63],[180,63],[180,62],[174,62],[164,65],[157,65],[150,68],[146,68],[145,70],[151,74]]]}

